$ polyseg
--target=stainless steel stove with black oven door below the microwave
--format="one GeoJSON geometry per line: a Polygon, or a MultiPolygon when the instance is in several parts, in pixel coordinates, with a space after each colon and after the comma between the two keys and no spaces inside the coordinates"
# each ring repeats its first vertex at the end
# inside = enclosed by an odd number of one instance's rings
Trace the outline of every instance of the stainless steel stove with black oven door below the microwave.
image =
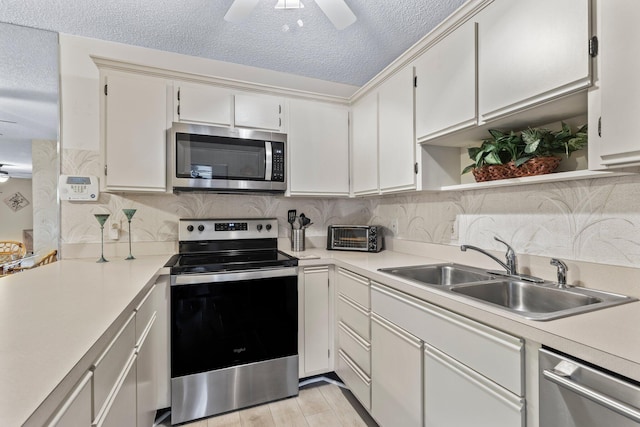
{"type": "Polygon", "coordinates": [[[181,219],[171,269],[171,422],[298,394],[298,260],[270,219],[181,219]]]}

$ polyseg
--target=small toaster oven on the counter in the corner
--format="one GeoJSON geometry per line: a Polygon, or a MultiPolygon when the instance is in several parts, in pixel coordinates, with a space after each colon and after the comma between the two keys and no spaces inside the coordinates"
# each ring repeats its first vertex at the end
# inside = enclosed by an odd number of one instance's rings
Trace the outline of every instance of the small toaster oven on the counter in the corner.
{"type": "Polygon", "coordinates": [[[327,229],[327,249],[380,252],[383,249],[382,227],[379,225],[330,225],[327,229]]]}

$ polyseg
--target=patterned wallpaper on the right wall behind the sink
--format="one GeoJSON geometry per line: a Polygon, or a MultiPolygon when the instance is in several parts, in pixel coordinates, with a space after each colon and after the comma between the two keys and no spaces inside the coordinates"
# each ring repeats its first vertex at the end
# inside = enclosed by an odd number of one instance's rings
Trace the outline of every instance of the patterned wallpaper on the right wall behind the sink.
{"type": "Polygon", "coordinates": [[[374,221],[398,219],[401,239],[637,267],[640,177],[636,175],[382,198],[374,221]]]}

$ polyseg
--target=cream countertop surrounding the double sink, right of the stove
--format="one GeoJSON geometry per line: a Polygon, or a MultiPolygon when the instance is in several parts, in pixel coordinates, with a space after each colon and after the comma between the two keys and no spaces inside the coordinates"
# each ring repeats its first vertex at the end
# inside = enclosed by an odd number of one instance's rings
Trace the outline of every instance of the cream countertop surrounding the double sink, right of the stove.
{"type": "MultiPolygon", "coordinates": [[[[638,333],[640,301],[551,321],[527,320],[517,314],[473,298],[457,295],[437,287],[419,285],[377,271],[378,268],[443,262],[496,269],[497,264],[489,258],[485,257],[486,260],[484,260],[482,259],[483,255],[478,257],[461,253],[457,246],[422,245],[412,242],[408,245],[396,244],[398,250],[385,250],[380,253],[327,251],[322,248],[308,248],[303,252],[292,252],[284,244],[281,246],[285,248],[286,252],[299,257],[301,267],[327,264],[343,267],[426,302],[522,337],[527,341],[552,347],[640,381],[640,333],[638,333]]],[[[555,280],[555,270],[549,266],[548,258],[540,257],[537,260],[534,259],[537,257],[521,256],[521,258],[531,262],[537,268],[534,271],[527,269],[527,273],[533,273],[547,280],[555,280]],[[539,265],[542,267],[540,268],[539,265]],[[541,274],[540,270],[546,275],[541,274]]],[[[590,274],[595,270],[604,270],[600,273],[600,278],[594,277],[594,280],[590,281],[583,279],[589,287],[638,297],[637,293],[608,289],[605,282],[612,283],[618,279],[629,282],[629,276],[638,276],[638,280],[627,283],[628,289],[635,287],[637,292],[637,288],[640,287],[640,270],[580,264],[581,274],[587,274],[589,277],[595,276],[595,274],[590,274]],[[587,271],[589,268],[592,271],[587,271]],[[603,280],[603,278],[607,280],[603,280]]],[[[572,264],[570,266],[575,270],[578,269],[572,264]]],[[[572,272],[574,276],[578,273],[572,272]]]]}

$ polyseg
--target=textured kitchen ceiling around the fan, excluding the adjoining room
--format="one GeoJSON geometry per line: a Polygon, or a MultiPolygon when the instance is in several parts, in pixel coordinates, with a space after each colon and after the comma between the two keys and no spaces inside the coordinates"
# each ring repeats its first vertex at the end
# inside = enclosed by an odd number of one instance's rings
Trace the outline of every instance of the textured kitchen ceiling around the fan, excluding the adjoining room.
{"type": "Polygon", "coordinates": [[[0,0],[0,21],[362,86],[463,3],[345,1],[358,19],[341,31],[312,0],[260,0],[239,24],[233,0],[0,0]]]}

